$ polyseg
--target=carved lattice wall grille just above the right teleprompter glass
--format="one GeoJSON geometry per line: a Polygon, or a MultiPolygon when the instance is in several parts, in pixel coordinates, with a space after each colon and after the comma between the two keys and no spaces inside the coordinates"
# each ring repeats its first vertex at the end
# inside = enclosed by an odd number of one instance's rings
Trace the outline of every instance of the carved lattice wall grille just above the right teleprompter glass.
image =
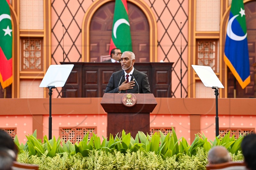
{"type": "Polygon", "coordinates": [[[215,73],[219,72],[217,70],[217,44],[217,40],[197,40],[196,65],[210,66],[215,73]]]}

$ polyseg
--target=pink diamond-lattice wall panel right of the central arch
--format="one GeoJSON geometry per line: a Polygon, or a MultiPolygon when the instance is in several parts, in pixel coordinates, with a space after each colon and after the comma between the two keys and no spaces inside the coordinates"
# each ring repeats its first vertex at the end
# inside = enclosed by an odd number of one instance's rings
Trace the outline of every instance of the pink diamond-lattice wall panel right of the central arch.
{"type": "Polygon", "coordinates": [[[172,97],[180,98],[180,91],[182,91],[182,97],[187,97],[188,1],[148,0],[147,2],[157,22],[157,58],[163,59],[164,62],[174,62],[172,97]],[[180,69],[182,69],[182,78],[180,78],[180,69]],[[181,81],[182,89],[180,89],[180,79],[183,80],[181,81]]]}

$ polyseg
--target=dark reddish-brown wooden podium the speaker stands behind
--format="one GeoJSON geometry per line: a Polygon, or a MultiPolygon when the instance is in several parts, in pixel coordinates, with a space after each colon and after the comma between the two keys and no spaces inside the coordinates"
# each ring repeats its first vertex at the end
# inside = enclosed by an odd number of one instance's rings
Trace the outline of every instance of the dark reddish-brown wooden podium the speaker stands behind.
{"type": "Polygon", "coordinates": [[[126,107],[122,104],[124,93],[105,93],[101,100],[101,106],[108,113],[107,118],[107,136],[110,133],[115,137],[116,134],[122,134],[122,130],[131,133],[135,138],[138,131],[149,134],[150,120],[149,113],[157,105],[153,94],[134,94],[137,103],[133,107],[126,107]]]}

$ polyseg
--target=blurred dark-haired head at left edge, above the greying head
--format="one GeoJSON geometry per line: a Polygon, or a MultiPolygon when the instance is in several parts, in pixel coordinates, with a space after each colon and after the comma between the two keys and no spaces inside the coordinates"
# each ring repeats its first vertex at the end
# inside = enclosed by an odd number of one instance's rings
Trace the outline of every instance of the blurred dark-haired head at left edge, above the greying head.
{"type": "Polygon", "coordinates": [[[15,156],[14,160],[16,160],[18,148],[12,140],[12,137],[3,129],[0,129],[0,147],[12,150],[15,156]]]}

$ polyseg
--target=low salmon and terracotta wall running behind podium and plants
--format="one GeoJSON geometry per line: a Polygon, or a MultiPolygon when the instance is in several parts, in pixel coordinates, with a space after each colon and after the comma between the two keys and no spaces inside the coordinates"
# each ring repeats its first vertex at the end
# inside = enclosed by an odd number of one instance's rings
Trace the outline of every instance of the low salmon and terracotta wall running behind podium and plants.
{"type": "MultiPolygon", "coordinates": [[[[100,105],[101,100],[52,99],[52,135],[59,136],[59,127],[81,124],[97,126],[98,135],[106,137],[107,114],[100,105]]],[[[214,139],[214,99],[156,98],[156,101],[157,106],[150,114],[150,127],[173,126],[177,136],[185,137],[188,142],[189,138],[190,142],[194,140],[194,133],[202,131],[206,137],[214,139]]],[[[256,99],[219,99],[220,128],[255,128],[255,102],[256,99]]],[[[32,134],[35,129],[43,129],[42,137],[48,135],[49,99],[0,99],[0,108],[0,127],[17,127],[20,142],[24,143],[25,135],[32,134]]]]}

